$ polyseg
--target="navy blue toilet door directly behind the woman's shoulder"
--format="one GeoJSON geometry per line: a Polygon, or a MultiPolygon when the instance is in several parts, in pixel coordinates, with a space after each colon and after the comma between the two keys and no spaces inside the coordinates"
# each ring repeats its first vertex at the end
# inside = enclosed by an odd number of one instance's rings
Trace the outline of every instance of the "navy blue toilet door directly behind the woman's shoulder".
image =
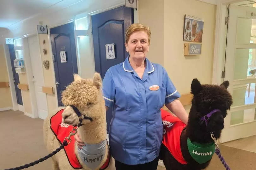
{"type": "MultiPolygon", "coordinates": [[[[102,79],[107,69],[121,63],[129,55],[125,49],[125,31],[133,23],[133,9],[124,6],[92,16],[95,70],[102,79]],[[114,44],[115,57],[107,59],[106,44],[114,44]]],[[[107,130],[112,109],[107,112],[107,130]]]]}

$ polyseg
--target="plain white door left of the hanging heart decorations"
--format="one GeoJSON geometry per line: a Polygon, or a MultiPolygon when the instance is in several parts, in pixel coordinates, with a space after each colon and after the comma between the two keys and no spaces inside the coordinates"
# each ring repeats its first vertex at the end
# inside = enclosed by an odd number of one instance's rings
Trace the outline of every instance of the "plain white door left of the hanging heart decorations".
{"type": "Polygon", "coordinates": [[[37,35],[28,38],[28,45],[32,65],[32,81],[34,81],[38,117],[45,119],[48,115],[48,108],[46,94],[42,91],[42,86],[44,86],[44,76],[37,35]]]}

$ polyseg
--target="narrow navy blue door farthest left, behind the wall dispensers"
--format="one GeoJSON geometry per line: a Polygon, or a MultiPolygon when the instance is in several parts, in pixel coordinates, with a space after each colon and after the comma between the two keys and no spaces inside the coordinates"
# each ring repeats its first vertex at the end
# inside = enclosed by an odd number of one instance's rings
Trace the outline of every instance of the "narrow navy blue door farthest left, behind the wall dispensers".
{"type": "Polygon", "coordinates": [[[9,53],[10,53],[10,58],[11,58],[12,74],[13,74],[13,81],[14,81],[14,86],[15,86],[17,103],[20,105],[23,105],[22,97],[21,97],[21,90],[18,88],[18,84],[20,83],[19,74],[15,72],[15,67],[14,67],[14,62],[13,62],[16,59],[14,45],[9,44],[8,47],[9,47],[9,53]]]}

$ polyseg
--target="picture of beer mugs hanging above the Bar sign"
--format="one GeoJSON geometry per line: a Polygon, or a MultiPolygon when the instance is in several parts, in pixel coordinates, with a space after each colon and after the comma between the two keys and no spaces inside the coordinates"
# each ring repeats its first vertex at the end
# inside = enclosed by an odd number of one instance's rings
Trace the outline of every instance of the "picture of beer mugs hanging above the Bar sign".
{"type": "Polygon", "coordinates": [[[204,21],[201,18],[185,15],[183,41],[202,43],[204,21]]]}

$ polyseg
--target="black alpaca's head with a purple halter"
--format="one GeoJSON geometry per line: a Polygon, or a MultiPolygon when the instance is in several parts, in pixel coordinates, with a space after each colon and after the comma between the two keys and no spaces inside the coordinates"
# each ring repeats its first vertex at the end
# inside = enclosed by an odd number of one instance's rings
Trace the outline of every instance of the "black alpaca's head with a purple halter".
{"type": "MultiPolygon", "coordinates": [[[[227,110],[232,105],[232,97],[227,91],[229,81],[224,81],[221,85],[201,85],[198,79],[193,79],[191,84],[191,93],[193,94],[192,107],[189,121],[198,121],[196,123],[205,126],[209,132],[214,132],[215,137],[219,138],[221,130],[224,128],[224,118],[227,116],[227,110]],[[219,109],[212,114],[206,127],[205,122],[200,118],[214,109],[219,109]]],[[[194,122],[195,123],[195,122],[194,122]]]]}

